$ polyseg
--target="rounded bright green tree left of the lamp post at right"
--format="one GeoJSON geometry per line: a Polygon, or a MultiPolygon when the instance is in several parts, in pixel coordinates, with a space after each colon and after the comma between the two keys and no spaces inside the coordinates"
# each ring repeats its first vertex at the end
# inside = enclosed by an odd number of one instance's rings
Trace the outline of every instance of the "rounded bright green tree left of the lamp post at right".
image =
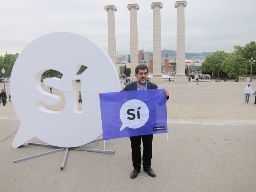
{"type": "Polygon", "coordinates": [[[229,78],[237,78],[247,74],[247,62],[243,56],[235,53],[229,54],[223,61],[223,71],[227,73],[229,78]]]}

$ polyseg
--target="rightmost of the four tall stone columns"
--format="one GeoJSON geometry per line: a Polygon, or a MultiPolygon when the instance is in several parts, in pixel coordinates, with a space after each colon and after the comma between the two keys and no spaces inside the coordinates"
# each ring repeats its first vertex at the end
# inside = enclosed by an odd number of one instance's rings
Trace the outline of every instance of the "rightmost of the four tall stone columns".
{"type": "Polygon", "coordinates": [[[176,1],[174,7],[177,8],[177,52],[176,52],[176,75],[174,83],[187,83],[185,75],[185,11],[187,1],[176,1]]]}

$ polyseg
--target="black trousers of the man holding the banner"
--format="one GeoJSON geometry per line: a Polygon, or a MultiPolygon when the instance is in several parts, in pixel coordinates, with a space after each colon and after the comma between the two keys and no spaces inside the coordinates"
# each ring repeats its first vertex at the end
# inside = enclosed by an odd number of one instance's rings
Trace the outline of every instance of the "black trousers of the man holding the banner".
{"type": "Polygon", "coordinates": [[[141,135],[130,137],[132,148],[132,166],[141,169],[141,139],[143,144],[142,165],[143,168],[151,167],[153,135],[141,135]]]}

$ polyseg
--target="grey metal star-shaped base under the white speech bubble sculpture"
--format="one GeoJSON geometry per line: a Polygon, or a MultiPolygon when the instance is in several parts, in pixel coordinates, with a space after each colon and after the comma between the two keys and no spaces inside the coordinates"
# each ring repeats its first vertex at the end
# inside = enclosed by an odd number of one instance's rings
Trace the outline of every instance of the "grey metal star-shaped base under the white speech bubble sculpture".
{"type": "MultiPolygon", "coordinates": [[[[103,138],[95,139],[90,143],[97,142],[97,141],[100,141],[100,140],[103,140],[103,138]]],[[[60,166],[60,169],[63,170],[69,150],[82,150],[82,151],[97,152],[97,153],[109,153],[109,154],[114,154],[115,153],[115,151],[113,151],[113,150],[88,149],[88,148],[78,148],[78,147],[75,147],[75,148],[61,148],[61,147],[56,147],[56,146],[53,146],[53,145],[42,144],[42,143],[27,143],[27,144],[28,145],[43,146],[43,147],[53,147],[53,148],[58,148],[58,149],[51,150],[51,151],[48,151],[48,152],[45,152],[45,153],[40,153],[40,154],[33,155],[33,156],[29,156],[29,157],[22,158],[22,159],[17,159],[17,160],[13,161],[14,163],[18,163],[18,162],[21,162],[21,161],[24,161],[24,160],[33,159],[33,158],[37,158],[37,157],[40,157],[40,156],[43,156],[43,155],[49,155],[51,153],[56,153],[56,152],[59,152],[59,151],[66,150],[65,154],[64,154],[64,157],[63,157],[63,160],[62,160],[62,163],[61,163],[61,166],[60,166]]],[[[89,144],[89,143],[87,143],[87,144],[89,144]]]]}

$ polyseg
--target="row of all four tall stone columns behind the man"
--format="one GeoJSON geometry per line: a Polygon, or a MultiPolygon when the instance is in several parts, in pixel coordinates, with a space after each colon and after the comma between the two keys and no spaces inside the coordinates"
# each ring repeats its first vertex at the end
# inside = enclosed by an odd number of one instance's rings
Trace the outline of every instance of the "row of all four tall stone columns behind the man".
{"type": "MultiPolygon", "coordinates": [[[[161,14],[160,9],[163,7],[161,2],[151,3],[153,9],[153,77],[154,83],[163,83],[161,72],[161,14]]],[[[177,8],[177,72],[174,78],[175,83],[187,83],[184,73],[185,60],[185,14],[184,8],[187,6],[186,1],[176,1],[174,7],[177,8]]],[[[105,6],[108,12],[108,54],[116,65],[116,42],[115,42],[115,16],[117,11],[114,5],[105,6]]],[[[138,23],[137,10],[140,9],[137,3],[128,4],[127,9],[130,11],[130,54],[131,54],[131,78],[135,77],[135,67],[138,65],[138,23]]],[[[117,65],[116,65],[117,66],[117,65]]],[[[119,72],[119,69],[117,69],[119,72]]]]}

